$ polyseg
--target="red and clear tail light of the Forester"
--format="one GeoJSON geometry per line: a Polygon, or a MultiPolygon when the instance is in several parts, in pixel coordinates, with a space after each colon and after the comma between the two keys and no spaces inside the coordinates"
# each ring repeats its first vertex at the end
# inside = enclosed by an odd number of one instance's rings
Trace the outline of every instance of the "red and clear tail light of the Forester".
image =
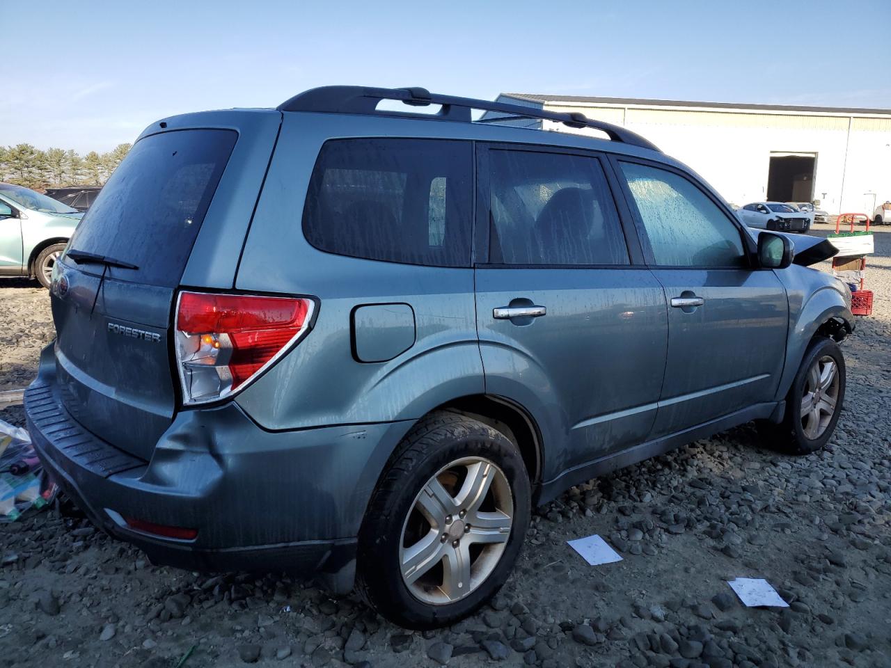
{"type": "Polygon", "coordinates": [[[304,335],[310,299],[181,292],[176,364],[183,403],[208,403],[247,386],[304,335]]]}

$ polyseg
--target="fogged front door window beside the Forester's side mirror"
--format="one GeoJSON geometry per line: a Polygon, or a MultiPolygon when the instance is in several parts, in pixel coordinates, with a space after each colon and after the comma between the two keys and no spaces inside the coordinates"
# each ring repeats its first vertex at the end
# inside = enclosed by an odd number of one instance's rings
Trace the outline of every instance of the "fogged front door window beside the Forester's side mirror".
{"type": "Polygon", "coordinates": [[[657,265],[747,265],[740,229],[696,185],[666,169],[619,165],[657,265]]]}

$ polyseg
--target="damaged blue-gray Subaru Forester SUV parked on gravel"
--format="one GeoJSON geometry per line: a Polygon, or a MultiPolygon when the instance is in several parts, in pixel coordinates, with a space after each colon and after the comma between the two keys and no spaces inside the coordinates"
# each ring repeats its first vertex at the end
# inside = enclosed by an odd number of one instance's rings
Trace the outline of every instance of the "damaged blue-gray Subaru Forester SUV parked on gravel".
{"type": "Polygon", "coordinates": [[[803,265],[833,252],[580,114],[334,86],[167,118],[55,265],[29,430],[156,562],[453,623],[570,485],[749,420],[821,448],[854,318],[803,265]]]}

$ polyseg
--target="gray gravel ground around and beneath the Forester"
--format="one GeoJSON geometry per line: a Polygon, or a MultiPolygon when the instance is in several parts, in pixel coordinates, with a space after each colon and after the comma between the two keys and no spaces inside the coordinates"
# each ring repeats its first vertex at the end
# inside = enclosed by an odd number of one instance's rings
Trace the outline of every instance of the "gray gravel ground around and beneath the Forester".
{"type": "MultiPolygon", "coordinates": [[[[423,633],[280,574],[151,566],[61,505],[0,525],[0,665],[891,666],[891,231],[876,238],[874,314],[844,345],[845,411],[818,455],[745,426],[576,487],[536,511],[491,607],[423,633]],[[586,566],[566,541],[589,534],[624,560],[586,566]],[[737,576],[791,606],[741,607],[737,576]]],[[[0,298],[0,389],[22,387],[48,298],[23,281],[0,298]]]]}

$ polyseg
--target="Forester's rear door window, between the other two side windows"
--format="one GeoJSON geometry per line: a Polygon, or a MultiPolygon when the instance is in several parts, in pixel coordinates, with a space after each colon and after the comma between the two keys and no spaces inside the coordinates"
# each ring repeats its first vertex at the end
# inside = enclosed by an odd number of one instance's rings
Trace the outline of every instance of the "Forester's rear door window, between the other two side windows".
{"type": "Polygon", "coordinates": [[[600,160],[549,152],[489,153],[489,261],[627,265],[600,160]]]}

